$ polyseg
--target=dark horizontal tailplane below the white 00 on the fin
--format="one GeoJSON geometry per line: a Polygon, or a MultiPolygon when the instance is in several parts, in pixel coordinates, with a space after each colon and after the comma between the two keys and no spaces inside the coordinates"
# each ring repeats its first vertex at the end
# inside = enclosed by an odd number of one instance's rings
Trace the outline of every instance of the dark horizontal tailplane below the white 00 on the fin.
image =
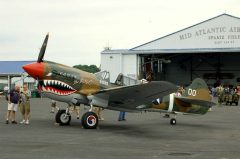
{"type": "Polygon", "coordinates": [[[206,100],[201,100],[201,99],[191,99],[187,97],[175,97],[177,100],[181,100],[186,103],[194,104],[194,105],[201,105],[204,107],[211,107],[213,105],[216,105],[214,102],[206,101],[206,100]]]}

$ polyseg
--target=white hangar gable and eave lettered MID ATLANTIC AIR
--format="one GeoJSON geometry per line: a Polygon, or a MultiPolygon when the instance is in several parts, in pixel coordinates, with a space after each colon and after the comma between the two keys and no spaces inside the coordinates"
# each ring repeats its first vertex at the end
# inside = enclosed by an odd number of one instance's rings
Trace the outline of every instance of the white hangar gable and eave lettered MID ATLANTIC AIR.
{"type": "Polygon", "coordinates": [[[240,18],[221,14],[129,50],[102,54],[240,52],[240,18]]]}

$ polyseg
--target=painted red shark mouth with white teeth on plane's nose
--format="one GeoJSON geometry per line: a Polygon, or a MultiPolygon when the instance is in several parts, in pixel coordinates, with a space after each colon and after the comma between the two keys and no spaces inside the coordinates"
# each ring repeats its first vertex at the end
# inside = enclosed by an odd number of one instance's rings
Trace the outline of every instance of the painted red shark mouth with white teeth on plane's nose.
{"type": "Polygon", "coordinates": [[[43,92],[53,93],[57,95],[70,95],[76,90],[68,84],[58,80],[43,80],[39,83],[39,89],[43,92]]]}

